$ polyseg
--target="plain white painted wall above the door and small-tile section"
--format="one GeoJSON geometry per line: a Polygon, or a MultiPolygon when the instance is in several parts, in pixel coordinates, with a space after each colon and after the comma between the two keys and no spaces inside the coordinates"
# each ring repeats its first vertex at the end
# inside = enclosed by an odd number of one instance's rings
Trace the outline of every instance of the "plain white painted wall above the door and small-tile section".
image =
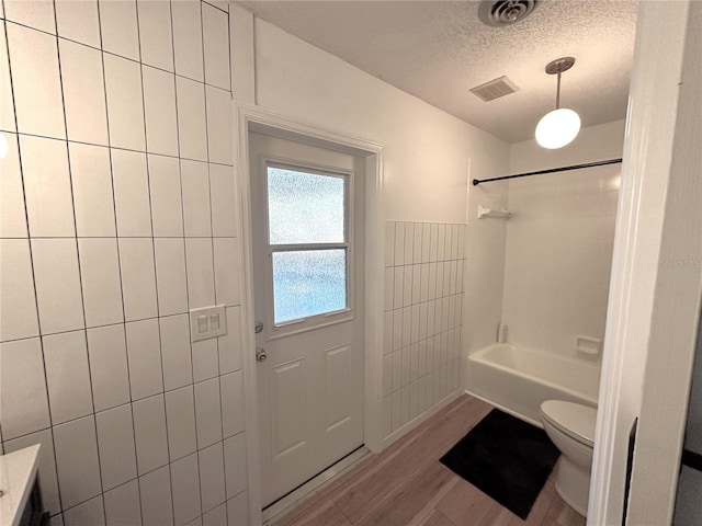
{"type": "Polygon", "coordinates": [[[386,218],[465,221],[468,169],[507,169],[507,145],[264,21],[256,20],[256,102],[384,147],[386,218]]]}

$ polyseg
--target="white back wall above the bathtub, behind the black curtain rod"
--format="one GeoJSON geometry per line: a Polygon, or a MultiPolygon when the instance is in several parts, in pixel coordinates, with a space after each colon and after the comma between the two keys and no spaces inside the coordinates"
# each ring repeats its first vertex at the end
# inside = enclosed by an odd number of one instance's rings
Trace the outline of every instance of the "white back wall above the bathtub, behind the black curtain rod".
{"type": "MultiPolygon", "coordinates": [[[[562,150],[512,145],[510,173],[616,159],[624,121],[584,128],[562,150]]],[[[578,335],[604,339],[621,164],[509,182],[502,323],[508,341],[575,359],[578,335]]],[[[592,393],[597,395],[597,393],[592,393]]]]}

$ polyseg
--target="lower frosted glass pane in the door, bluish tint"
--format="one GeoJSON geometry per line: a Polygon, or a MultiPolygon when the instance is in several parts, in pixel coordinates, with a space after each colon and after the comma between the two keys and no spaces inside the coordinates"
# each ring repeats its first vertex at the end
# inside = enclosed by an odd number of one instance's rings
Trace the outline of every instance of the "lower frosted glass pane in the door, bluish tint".
{"type": "Polygon", "coordinates": [[[274,322],[346,309],[347,250],[273,252],[274,322]]]}

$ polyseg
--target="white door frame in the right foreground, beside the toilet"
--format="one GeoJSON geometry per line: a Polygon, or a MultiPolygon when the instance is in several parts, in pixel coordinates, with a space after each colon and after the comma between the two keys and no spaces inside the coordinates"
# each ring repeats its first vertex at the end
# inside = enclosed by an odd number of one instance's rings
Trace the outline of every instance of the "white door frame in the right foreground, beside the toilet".
{"type": "Polygon", "coordinates": [[[702,297],[699,105],[689,111],[701,12],[638,5],[588,524],[670,524],[675,510],[702,297]]]}

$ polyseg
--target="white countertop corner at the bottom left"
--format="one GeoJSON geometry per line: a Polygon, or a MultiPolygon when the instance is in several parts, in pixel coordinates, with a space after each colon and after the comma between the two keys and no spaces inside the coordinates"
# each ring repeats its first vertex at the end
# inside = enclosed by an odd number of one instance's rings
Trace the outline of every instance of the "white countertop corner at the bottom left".
{"type": "Polygon", "coordinates": [[[20,524],[26,500],[34,487],[41,445],[0,456],[0,526],[20,524]]]}

